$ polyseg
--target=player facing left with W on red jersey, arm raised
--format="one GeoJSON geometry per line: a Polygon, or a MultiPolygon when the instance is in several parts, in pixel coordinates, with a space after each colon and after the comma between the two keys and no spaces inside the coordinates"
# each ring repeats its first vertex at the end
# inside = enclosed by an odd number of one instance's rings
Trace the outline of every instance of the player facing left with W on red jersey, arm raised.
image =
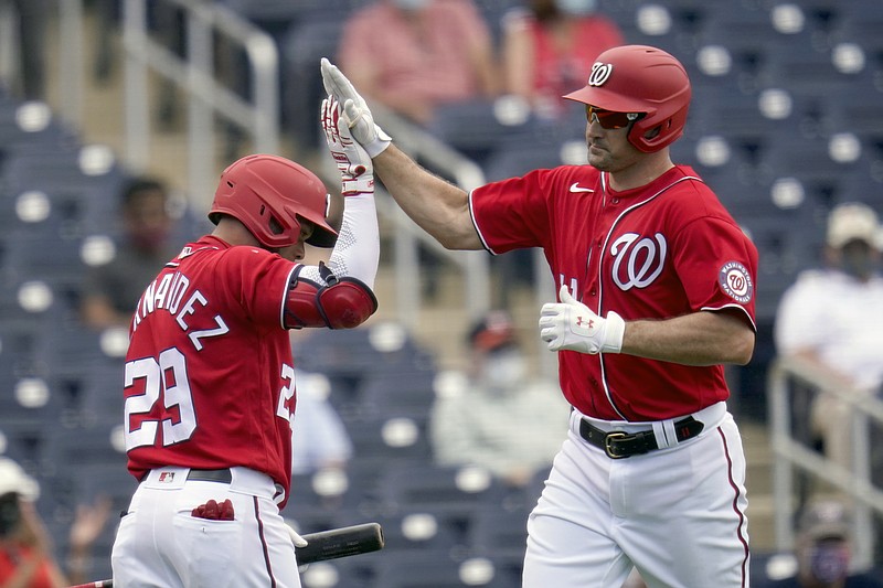
{"type": "Polygon", "coordinates": [[[560,288],[540,333],[573,410],[528,522],[523,586],[618,588],[632,565],[650,588],[747,586],[745,459],[722,364],[753,353],[757,252],[670,159],[691,97],[681,63],[605,51],[566,96],[585,104],[588,165],[470,194],[398,150],[336,66],[321,71],[418,225],[451,249],[541,247],[560,288]]]}

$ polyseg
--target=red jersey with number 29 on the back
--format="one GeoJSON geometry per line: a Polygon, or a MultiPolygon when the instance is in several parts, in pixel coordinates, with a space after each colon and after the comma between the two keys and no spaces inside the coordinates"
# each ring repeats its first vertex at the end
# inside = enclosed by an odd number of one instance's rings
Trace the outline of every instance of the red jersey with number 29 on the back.
{"type": "Polygon", "coordinates": [[[244,466],[288,496],[296,397],[283,312],[296,267],[205,236],[148,286],[126,354],[126,449],[136,478],[162,466],[244,466]]]}

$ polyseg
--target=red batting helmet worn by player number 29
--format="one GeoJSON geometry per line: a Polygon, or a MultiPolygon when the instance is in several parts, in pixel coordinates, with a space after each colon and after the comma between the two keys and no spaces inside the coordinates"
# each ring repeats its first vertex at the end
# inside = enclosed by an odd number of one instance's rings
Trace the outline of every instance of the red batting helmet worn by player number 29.
{"type": "Polygon", "coordinates": [[[300,236],[300,220],[316,227],[307,243],[332,247],[337,231],[328,224],[330,196],[308,169],[277,156],[246,156],[221,173],[209,220],[233,216],[265,247],[287,247],[300,236]]]}

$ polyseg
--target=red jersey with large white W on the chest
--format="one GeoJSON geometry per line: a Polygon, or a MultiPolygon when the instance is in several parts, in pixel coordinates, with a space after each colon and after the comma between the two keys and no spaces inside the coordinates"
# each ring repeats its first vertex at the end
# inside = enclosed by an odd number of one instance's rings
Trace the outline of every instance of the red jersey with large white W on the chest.
{"type": "MultiPolygon", "coordinates": [[[[556,282],[600,316],[736,309],[755,328],[757,249],[689,167],[623,192],[591,165],[535,170],[476,189],[470,209],[490,253],[543,248],[556,282]]],[[[722,365],[573,351],[558,361],[564,396],[596,418],[673,418],[730,396],[722,365]]]]}

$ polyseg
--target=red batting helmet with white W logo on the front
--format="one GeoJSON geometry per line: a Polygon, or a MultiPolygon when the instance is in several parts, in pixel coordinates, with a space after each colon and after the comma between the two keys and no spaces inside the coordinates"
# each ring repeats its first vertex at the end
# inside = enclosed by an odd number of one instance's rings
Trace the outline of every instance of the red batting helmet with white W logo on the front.
{"type": "Polygon", "coordinates": [[[564,97],[604,110],[643,113],[628,140],[651,153],[683,135],[690,96],[690,78],[681,62],[657,47],[623,45],[598,55],[586,87],[564,97]]]}

